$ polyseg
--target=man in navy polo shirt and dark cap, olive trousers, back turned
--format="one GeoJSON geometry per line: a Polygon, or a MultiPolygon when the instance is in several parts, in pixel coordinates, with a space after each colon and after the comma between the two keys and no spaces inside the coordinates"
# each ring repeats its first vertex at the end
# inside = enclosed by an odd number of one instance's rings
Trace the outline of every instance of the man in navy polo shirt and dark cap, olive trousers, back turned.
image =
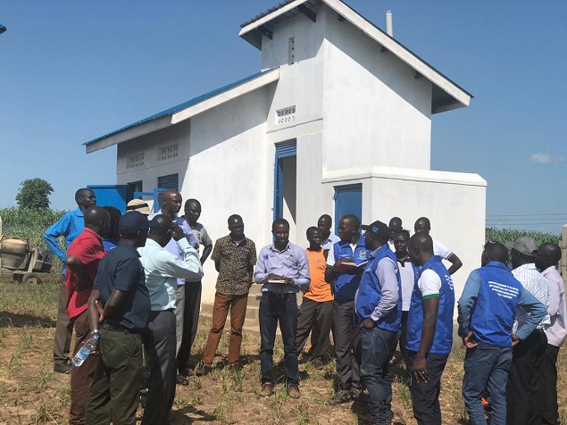
{"type": "Polygon", "coordinates": [[[136,248],[146,245],[156,226],[140,212],[119,222],[120,242],[99,264],[88,299],[92,333],[98,333],[100,356],[88,398],[86,423],[134,423],[144,370],[140,332],[150,314],[144,267],[136,248]]]}

